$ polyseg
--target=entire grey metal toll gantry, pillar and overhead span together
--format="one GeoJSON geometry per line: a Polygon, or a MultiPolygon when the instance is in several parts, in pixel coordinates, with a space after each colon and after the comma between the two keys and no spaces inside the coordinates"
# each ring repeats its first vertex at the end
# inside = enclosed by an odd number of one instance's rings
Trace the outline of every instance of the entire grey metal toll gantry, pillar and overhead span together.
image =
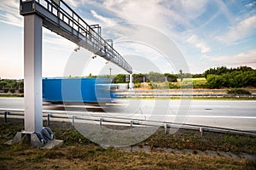
{"type": "Polygon", "coordinates": [[[24,16],[25,130],[22,134],[34,139],[31,135],[36,133],[40,139],[48,133],[43,128],[43,26],[129,73],[132,73],[132,68],[113,48],[113,44],[102,38],[99,25],[89,26],[62,0],[20,0],[20,14],[24,16]]]}

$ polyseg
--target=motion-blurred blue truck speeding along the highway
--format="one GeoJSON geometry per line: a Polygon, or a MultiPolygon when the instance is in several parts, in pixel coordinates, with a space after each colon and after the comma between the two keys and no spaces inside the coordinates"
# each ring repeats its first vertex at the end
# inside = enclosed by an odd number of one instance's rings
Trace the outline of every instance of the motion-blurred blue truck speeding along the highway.
{"type": "Polygon", "coordinates": [[[109,103],[114,98],[110,84],[108,78],[44,78],[43,100],[109,103]]]}

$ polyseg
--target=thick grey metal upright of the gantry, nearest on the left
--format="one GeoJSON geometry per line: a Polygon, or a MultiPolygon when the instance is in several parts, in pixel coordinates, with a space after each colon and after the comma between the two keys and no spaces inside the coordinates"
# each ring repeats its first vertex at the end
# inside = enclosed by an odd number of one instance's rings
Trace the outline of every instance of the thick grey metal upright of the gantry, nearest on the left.
{"type": "Polygon", "coordinates": [[[24,18],[25,131],[40,132],[42,112],[42,26],[37,14],[24,18]]]}

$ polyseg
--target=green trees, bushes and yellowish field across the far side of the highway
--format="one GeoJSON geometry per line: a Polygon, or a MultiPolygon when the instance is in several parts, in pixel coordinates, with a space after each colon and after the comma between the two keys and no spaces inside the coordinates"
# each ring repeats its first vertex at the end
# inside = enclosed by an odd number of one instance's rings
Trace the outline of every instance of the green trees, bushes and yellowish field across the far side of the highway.
{"type": "MultiPolygon", "coordinates": [[[[88,78],[96,76],[89,75],[88,78]]],[[[98,77],[110,77],[113,83],[129,84],[129,75],[103,75],[98,77]]],[[[136,89],[226,89],[227,94],[250,95],[249,90],[256,88],[256,70],[248,66],[227,68],[225,66],[211,68],[202,74],[183,73],[177,74],[159,73],[150,71],[148,74],[133,74],[133,88],[136,89]],[[239,89],[239,90],[238,90],[239,89]],[[239,92],[238,92],[239,91],[239,92]]],[[[68,77],[79,78],[79,77],[68,77]]],[[[80,77],[81,78],[81,77],[80,77]]],[[[0,79],[1,96],[22,96],[24,92],[23,80],[0,79]]]]}

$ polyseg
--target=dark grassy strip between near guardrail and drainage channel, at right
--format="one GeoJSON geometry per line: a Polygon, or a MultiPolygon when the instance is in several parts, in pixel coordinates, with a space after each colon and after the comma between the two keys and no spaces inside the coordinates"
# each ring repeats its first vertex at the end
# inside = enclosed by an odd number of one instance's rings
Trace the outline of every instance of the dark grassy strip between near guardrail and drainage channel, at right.
{"type": "Polygon", "coordinates": [[[204,132],[179,129],[177,133],[165,134],[160,128],[139,145],[151,148],[172,148],[179,150],[222,150],[236,154],[256,154],[256,137],[230,133],[204,132]]]}

